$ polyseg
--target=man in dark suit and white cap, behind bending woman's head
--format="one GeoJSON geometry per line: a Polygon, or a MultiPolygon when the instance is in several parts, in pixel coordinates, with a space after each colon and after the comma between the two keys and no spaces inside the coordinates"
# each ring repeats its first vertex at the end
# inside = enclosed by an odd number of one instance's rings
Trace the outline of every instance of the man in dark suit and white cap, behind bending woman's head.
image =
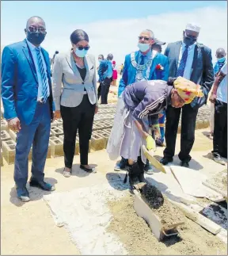
{"type": "MultiPolygon", "coordinates": [[[[184,105],[181,120],[180,166],[189,166],[189,155],[195,140],[196,116],[199,107],[207,103],[207,95],[214,82],[211,49],[196,43],[199,27],[188,24],[183,32],[183,41],[168,44],[165,55],[169,59],[169,77],[182,76],[199,84],[203,89],[203,97],[196,97],[191,104],[184,105]]],[[[173,162],[177,139],[177,128],[180,119],[180,109],[169,105],[166,110],[164,157],[163,165],[173,162]]]]}

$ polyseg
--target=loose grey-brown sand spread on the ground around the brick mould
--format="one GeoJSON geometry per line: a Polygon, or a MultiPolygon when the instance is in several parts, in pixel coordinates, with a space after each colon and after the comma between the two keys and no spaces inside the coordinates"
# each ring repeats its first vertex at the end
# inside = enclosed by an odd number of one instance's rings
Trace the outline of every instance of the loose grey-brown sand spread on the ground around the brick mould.
{"type": "Polygon", "coordinates": [[[137,216],[134,196],[127,195],[119,201],[110,201],[112,221],[107,231],[117,235],[131,255],[226,255],[226,244],[198,224],[185,218],[180,226],[180,237],[170,237],[158,242],[150,227],[137,216]]]}

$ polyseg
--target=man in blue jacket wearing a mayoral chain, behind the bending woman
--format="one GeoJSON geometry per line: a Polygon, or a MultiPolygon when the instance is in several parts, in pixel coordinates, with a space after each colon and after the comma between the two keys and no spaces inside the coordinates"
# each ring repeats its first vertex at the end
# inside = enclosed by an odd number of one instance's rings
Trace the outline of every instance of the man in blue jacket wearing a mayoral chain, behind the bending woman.
{"type": "MultiPolygon", "coordinates": [[[[155,43],[154,32],[150,29],[142,31],[139,35],[139,51],[126,55],[123,76],[120,79],[118,97],[124,92],[126,86],[143,80],[168,80],[168,59],[165,55],[151,49],[155,43]],[[158,68],[160,67],[160,68],[158,68]]],[[[124,170],[127,159],[122,158],[116,163],[114,170],[124,170]]],[[[147,174],[152,173],[149,162],[144,166],[147,174]]]]}

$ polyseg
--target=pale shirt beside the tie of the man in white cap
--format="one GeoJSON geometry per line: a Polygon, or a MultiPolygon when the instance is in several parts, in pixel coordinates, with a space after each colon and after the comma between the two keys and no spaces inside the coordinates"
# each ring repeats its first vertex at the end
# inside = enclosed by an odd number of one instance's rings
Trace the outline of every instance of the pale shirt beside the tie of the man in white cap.
{"type": "MultiPolygon", "coordinates": [[[[184,53],[185,46],[186,46],[186,44],[184,44],[184,42],[182,42],[177,68],[179,68],[180,60],[184,53]]],[[[192,44],[188,47],[188,57],[187,57],[187,62],[186,62],[186,66],[184,68],[184,75],[183,75],[183,77],[188,80],[190,80],[191,75],[192,75],[192,62],[193,62],[193,58],[194,58],[195,47],[196,47],[196,43],[192,44]]]]}

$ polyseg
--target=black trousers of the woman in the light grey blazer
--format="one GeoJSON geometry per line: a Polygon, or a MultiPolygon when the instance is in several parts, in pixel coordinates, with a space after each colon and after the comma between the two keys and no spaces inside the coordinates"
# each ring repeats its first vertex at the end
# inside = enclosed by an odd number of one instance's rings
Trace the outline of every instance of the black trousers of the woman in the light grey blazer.
{"type": "Polygon", "coordinates": [[[78,107],[60,106],[63,118],[63,151],[65,166],[72,167],[75,151],[77,132],[79,134],[80,162],[82,165],[88,164],[89,139],[92,135],[93,117],[95,114],[95,104],[89,102],[88,95],[83,96],[78,107]]]}

